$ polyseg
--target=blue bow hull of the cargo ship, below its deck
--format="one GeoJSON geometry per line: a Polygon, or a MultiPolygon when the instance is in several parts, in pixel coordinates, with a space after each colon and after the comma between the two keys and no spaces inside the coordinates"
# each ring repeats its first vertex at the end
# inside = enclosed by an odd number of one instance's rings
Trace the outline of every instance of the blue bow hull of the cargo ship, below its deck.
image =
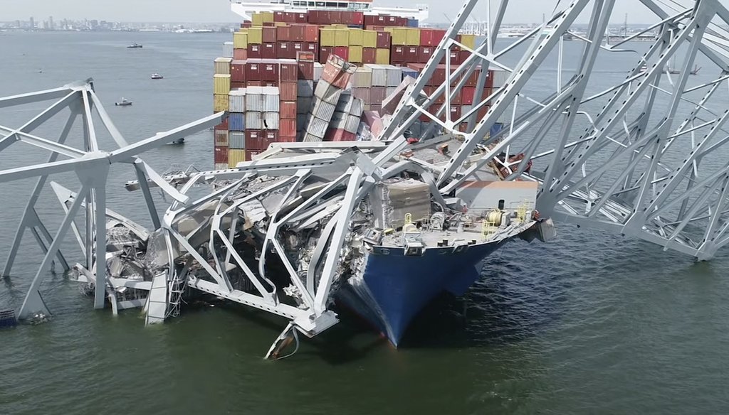
{"type": "Polygon", "coordinates": [[[428,248],[423,256],[405,256],[402,248],[378,247],[367,253],[364,269],[351,277],[338,296],[396,347],[410,321],[443,291],[462,296],[480,278],[480,264],[510,238],[454,248],[428,248]]]}

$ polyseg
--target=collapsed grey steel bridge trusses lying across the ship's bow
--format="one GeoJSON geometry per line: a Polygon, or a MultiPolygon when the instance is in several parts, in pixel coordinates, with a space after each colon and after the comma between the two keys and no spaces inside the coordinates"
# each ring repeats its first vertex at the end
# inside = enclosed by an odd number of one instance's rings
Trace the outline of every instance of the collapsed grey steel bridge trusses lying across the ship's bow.
{"type": "Polygon", "coordinates": [[[506,182],[535,183],[536,209],[542,218],[639,237],[701,260],[712,258],[729,242],[729,164],[722,152],[729,143],[723,88],[729,82],[729,36],[724,29],[729,12],[717,0],[639,3],[657,20],[642,33],[658,33],[642,55],[629,49],[631,38],[604,44],[614,0],[555,1],[555,11],[545,23],[503,47],[497,47],[496,34],[510,12],[509,2],[466,1],[375,141],[277,143],[255,161],[231,170],[163,177],[139,158],[144,151],[216,125],[225,114],[128,144],[90,82],[0,98],[0,108],[55,100],[20,127],[0,127],[0,151],[22,142],[51,153],[46,163],[0,170],[0,182],[38,178],[3,269],[4,275],[10,274],[20,239],[31,231],[45,256],[19,317],[49,313],[38,290],[50,264],[58,261],[64,269],[75,269],[93,292],[95,307],[104,307],[106,299],[114,310],[144,307],[147,323],[179,312],[185,288],[285,317],[289,324],[268,354],[275,356],[289,339],[297,339],[297,333],[315,336],[337,322],[330,306],[334,293],[342,291],[341,277],[362,269],[366,258],[355,252],[370,255],[386,249],[379,253],[390,255],[389,248],[383,248],[390,244],[402,255],[422,256],[434,252],[431,243],[436,249],[465,250],[523,235],[539,224],[532,207],[504,209],[499,210],[499,226],[493,226],[488,215],[480,216],[482,232],[459,235],[473,226],[468,224],[472,218],[458,216],[463,202],[459,192],[494,173],[506,182]],[[490,36],[469,50],[462,65],[451,67],[446,59],[446,82],[426,94],[424,86],[442,58],[453,48],[467,50],[456,42],[456,35],[477,3],[487,4],[486,15],[478,17],[486,19],[490,36]],[[575,27],[578,16],[589,16],[586,31],[575,27]],[[563,65],[566,35],[572,44],[582,42],[577,62],[569,66],[563,65]],[[520,58],[514,59],[514,54],[520,58]],[[593,91],[590,79],[596,60],[613,54],[636,58],[618,68],[625,69],[624,79],[593,91]],[[701,76],[691,76],[698,55],[712,63],[714,71],[706,68],[701,76]],[[557,62],[549,83],[534,76],[547,58],[557,62]],[[666,74],[663,68],[674,59],[680,73],[666,74]],[[447,108],[452,98],[478,66],[502,68],[510,76],[490,96],[480,96],[488,82],[488,71],[480,71],[477,104],[451,119],[447,108]],[[535,82],[539,88],[529,88],[535,82]],[[534,90],[539,93],[526,92],[534,90]],[[440,110],[432,111],[436,102],[440,110]],[[477,116],[483,107],[488,108],[485,116],[477,116]],[[71,118],[60,138],[32,134],[63,108],[71,108],[71,118]],[[118,149],[98,148],[93,111],[118,149]],[[77,116],[84,127],[83,149],[66,144],[77,116]],[[421,116],[431,122],[421,143],[412,146],[404,133],[421,116]],[[491,125],[499,121],[505,128],[489,135],[491,125]],[[445,143],[448,151],[443,151],[445,143]],[[440,156],[433,156],[433,149],[440,156]],[[106,207],[107,173],[118,163],[136,173],[137,180],[128,188],[141,191],[155,229],[144,229],[106,207]],[[52,236],[35,207],[48,178],[63,172],[77,175],[79,190],[51,183],[65,213],[52,236]],[[367,200],[377,193],[374,189],[393,179],[421,183],[431,207],[440,206],[436,213],[443,215],[432,214],[418,226],[405,216],[390,232],[367,232],[375,229],[367,200]],[[215,189],[195,196],[200,183],[215,189]],[[157,215],[152,186],[174,199],[164,216],[157,215]],[[77,216],[83,218],[83,226],[77,227],[77,216]],[[85,258],[75,266],[67,264],[60,250],[69,230],[85,258]],[[248,243],[256,239],[260,245],[248,243]],[[255,246],[261,249],[250,248],[255,246]],[[106,266],[95,265],[98,253],[104,253],[106,266]],[[273,267],[281,269],[288,285],[282,288],[273,280],[273,267]]]}

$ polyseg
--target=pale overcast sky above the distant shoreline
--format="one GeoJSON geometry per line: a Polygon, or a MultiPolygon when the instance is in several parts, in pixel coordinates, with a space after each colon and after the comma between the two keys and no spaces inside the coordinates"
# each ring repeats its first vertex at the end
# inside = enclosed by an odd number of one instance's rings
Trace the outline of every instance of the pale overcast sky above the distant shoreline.
{"type": "MultiPolygon", "coordinates": [[[[542,14],[554,9],[557,0],[511,0],[512,12],[507,23],[537,23],[542,14]]],[[[688,0],[680,0],[682,2],[688,0]]],[[[725,6],[729,0],[720,0],[725,6]]],[[[566,1],[563,1],[563,4],[566,1]]],[[[486,1],[480,2],[480,10],[486,10],[486,1]]],[[[492,3],[498,4],[497,1],[492,3]]],[[[429,4],[432,23],[445,22],[445,15],[453,18],[462,0],[375,0],[377,5],[410,6],[429,4]]],[[[494,6],[495,7],[495,6],[494,6]]],[[[631,23],[652,23],[655,21],[638,0],[616,0],[614,23],[622,23],[628,13],[631,23]]],[[[484,14],[485,15],[485,14],[484,14]]],[[[0,20],[36,21],[63,18],[88,18],[113,21],[153,22],[237,22],[230,12],[227,0],[0,0],[0,20]]],[[[587,20],[583,16],[580,20],[587,20]]],[[[480,20],[486,20],[485,17],[480,20]]]]}

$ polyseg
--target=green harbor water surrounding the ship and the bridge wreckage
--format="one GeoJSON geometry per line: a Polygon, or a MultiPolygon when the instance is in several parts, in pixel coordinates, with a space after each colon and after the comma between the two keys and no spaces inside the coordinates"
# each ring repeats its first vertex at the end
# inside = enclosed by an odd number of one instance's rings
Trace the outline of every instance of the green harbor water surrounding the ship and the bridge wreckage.
{"type": "MultiPolygon", "coordinates": [[[[213,60],[227,40],[229,33],[0,33],[0,95],[93,77],[119,130],[139,141],[210,113],[213,60]],[[144,48],[127,49],[133,42],[144,48]],[[149,79],[155,72],[164,79],[149,79]],[[122,97],[133,106],[115,107],[122,97]]],[[[577,42],[566,44],[569,53],[579,53],[577,42]]],[[[625,77],[609,65],[601,63],[591,87],[625,77]]],[[[0,110],[0,125],[20,127],[47,105],[0,110]]],[[[37,134],[58,134],[64,121],[37,134]]],[[[206,131],[143,157],[160,172],[211,168],[212,143],[206,131]]],[[[17,143],[0,153],[0,168],[46,158],[17,143]]],[[[114,167],[109,207],[148,225],[141,197],[123,189],[132,178],[128,167],[114,167]]],[[[78,189],[71,175],[54,180],[78,189]]],[[[0,265],[33,183],[0,183],[0,265]]],[[[52,228],[59,210],[52,197],[39,205],[52,228]]],[[[345,312],[340,325],[275,363],[262,356],[284,320],[192,303],[145,328],[139,310],[94,310],[74,282],[49,272],[42,293],[52,320],[0,330],[0,414],[729,411],[727,252],[697,263],[593,229],[558,224],[558,233],[547,244],[497,251],[464,299],[444,296],[416,318],[400,349],[345,312]]],[[[64,251],[79,261],[71,237],[64,251]]],[[[0,309],[20,307],[41,259],[26,234],[0,286],[0,309]]]]}

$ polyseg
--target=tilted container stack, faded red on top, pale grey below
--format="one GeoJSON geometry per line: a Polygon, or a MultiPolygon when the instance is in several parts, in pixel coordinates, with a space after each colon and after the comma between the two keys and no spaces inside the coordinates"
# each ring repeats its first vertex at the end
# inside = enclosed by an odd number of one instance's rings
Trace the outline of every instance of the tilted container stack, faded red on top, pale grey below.
{"type": "Polygon", "coordinates": [[[346,89],[356,66],[336,55],[331,55],[321,80],[316,84],[313,106],[307,114],[303,141],[323,141],[332,121],[342,91],[346,89]]]}

